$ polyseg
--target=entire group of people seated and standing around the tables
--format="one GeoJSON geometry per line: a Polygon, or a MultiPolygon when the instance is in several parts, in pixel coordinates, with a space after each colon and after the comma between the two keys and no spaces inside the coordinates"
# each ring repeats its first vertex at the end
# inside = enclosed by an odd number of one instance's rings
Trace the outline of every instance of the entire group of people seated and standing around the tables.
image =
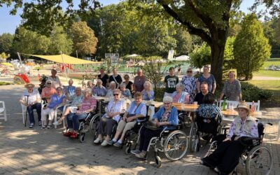
{"type": "MultiPolygon", "coordinates": [[[[174,76],[174,69],[169,69],[169,76],[165,78],[166,92],[163,98],[163,106],[153,116],[154,125],[158,126],[159,130],[142,127],[139,132],[139,148],[132,151],[137,158],[146,158],[148,144],[152,137],[158,137],[164,128],[172,130],[175,125],[179,124],[178,111],[172,103],[190,104],[197,102],[200,105],[197,109],[197,125],[199,127],[204,127],[205,124],[211,123],[212,118],[221,116],[221,110],[215,105],[215,80],[211,74],[209,75],[208,71],[209,67],[204,66],[204,74],[200,79],[211,78],[213,83],[211,85],[206,81],[196,81],[192,76],[192,69],[188,69],[188,75],[179,83],[179,80],[174,76]],[[196,83],[200,87],[199,90],[196,90],[196,83]]],[[[20,103],[27,106],[29,127],[34,127],[33,109],[36,109],[39,125],[43,129],[50,129],[55,110],[60,106],[59,110],[62,111],[66,100],[69,100],[71,105],[64,110],[62,118],[54,124],[59,125],[66,118],[67,130],[64,136],[77,138],[79,120],[85,118],[87,113],[97,108],[97,100],[93,95],[107,96],[111,97],[111,100],[105,108],[106,113],[104,113],[98,124],[98,137],[94,140],[94,143],[100,143],[102,146],[122,146],[125,133],[134,127],[137,120],[142,120],[147,115],[147,107],[143,100],[154,99],[153,86],[146,80],[141,69],[137,71],[134,83],[130,82],[128,75],[125,75],[125,81],[123,82],[116,69],[113,70],[113,75],[110,77],[104,74],[104,69],[100,69],[100,73],[97,85],[94,86],[92,82],[89,82],[84,93],[82,93],[80,87],[73,87],[73,80],[69,80],[69,86],[62,88],[59,78],[55,76],[56,71],[53,70],[52,76],[46,81],[41,95],[34,90],[34,84],[28,83],[25,85],[27,91],[22,95],[20,103]],[[109,88],[107,89],[106,87],[109,88]],[[128,108],[124,97],[134,97],[134,101],[128,108]],[[41,110],[41,99],[45,99],[48,102],[43,107],[43,110],[41,110]],[[116,134],[112,136],[113,126],[116,125],[116,134]]],[[[230,72],[229,77],[230,80],[223,90],[223,95],[229,94],[229,97],[235,97],[235,99],[239,100],[241,99],[239,83],[234,79],[234,73],[230,72]],[[236,87],[236,92],[228,92],[228,86],[230,85],[236,87]]],[[[230,132],[226,139],[223,140],[221,146],[218,146],[218,149],[213,154],[203,158],[201,162],[202,165],[214,168],[218,172],[229,172],[232,164],[238,161],[241,149],[244,148],[238,142],[240,137],[258,137],[258,128],[252,118],[249,117],[250,110],[248,106],[240,104],[235,110],[238,111],[239,117],[235,118],[230,126],[230,132]]],[[[214,127],[206,130],[214,130],[214,127]]]]}

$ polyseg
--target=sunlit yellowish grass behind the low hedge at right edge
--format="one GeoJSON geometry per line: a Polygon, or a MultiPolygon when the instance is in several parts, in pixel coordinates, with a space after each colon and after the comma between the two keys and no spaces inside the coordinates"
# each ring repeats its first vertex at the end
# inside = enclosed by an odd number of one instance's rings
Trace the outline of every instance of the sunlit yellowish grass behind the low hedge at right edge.
{"type": "Polygon", "coordinates": [[[248,82],[264,90],[273,92],[272,99],[265,106],[280,106],[280,80],[250,80],[248,82]]]}

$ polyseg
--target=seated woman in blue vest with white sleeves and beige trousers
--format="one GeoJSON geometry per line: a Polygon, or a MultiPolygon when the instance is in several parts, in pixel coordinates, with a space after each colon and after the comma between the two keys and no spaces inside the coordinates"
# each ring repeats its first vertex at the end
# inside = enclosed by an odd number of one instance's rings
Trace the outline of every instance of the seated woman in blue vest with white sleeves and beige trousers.
{"type": "Polygon", "coordinates": [[[136,92],[134,94],[134,102],[130,104],[130,108],[123,115],[123,119],[118,123],[117,132],[115,137],[112,139],[113,146],[120,147],[123,145],[123,140],[125,139],[125,133],[131,130],[137,123],[137,120],[141,120],[146,116],[147,107],[144,102],[142,102],[141,92],[136,92]],[[120,134],[121,137],[120,137],[120,134]],[[120,137],[120,139],[118,139],[120,137]]]}

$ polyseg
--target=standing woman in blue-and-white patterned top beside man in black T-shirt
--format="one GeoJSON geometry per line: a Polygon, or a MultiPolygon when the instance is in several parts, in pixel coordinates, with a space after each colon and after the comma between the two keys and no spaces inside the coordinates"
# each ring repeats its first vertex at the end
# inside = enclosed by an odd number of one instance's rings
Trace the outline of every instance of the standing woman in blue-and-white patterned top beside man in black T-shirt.
{"type": "Polygon", "coordinates": [[[193,77],[193,69],[191,67],[187,70],[187,75],[183,76],[181,83],[184,86],[184,92],[190,94],[190,103],[193,103],[195,99],[195,90],[196,90],[196,78],[193,77]]]}

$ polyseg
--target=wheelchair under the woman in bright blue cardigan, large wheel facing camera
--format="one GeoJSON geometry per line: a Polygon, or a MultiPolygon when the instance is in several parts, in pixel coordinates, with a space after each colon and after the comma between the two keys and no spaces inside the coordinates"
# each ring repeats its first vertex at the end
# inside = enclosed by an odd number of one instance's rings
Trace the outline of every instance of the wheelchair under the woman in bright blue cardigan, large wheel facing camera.
{"type": "MultiPolygon", "coordinates": [[[[159,152],[164,153],[168,160],[176,161],[183,158],[188,151],[188,137],[185,132],[180,130],[181,125],[176,125],[176,129],[162,130],[159,137],[153,137],[148,145],[147,152],[150,148],[154,149],[155,164],[160,168],[162,160],[159,152]]],[[[148,154],[146,159],[148,158],[148,154]]]]}

